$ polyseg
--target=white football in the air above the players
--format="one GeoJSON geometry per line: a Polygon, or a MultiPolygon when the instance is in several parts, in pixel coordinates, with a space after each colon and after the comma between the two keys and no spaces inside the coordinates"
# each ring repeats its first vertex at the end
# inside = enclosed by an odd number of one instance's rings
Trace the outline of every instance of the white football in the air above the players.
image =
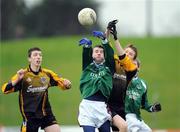
{"type": "Polygon", "coordinates": [[[91,8],[83,8],[78,14],[78,21],[83,26],[91,26],[96,22],[96,12],[91,8]]]}

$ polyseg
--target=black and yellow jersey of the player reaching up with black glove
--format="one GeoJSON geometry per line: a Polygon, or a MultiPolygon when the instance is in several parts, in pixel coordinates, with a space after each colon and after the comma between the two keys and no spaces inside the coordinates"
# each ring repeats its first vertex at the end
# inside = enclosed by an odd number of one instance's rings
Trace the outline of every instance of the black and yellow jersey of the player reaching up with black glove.
{"type": "Polygon", "coordinates": [[[109,107],[112,111],[124,111],[124,100],[129,82],[137,73],[137,66],[126,55],[114,56],[115,73],[113,76],[113,89],[109,99],[109,107]]]}

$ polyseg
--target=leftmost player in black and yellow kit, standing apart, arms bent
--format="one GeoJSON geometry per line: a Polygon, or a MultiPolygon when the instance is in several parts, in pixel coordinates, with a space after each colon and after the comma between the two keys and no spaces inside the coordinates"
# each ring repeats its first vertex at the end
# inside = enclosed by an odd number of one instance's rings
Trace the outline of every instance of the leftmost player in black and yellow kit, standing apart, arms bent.
{"type": "Polygon", "coordinates": [[[12,79],[2,86],[5,94],[19,91],[19,106],[23,117],[22,132],[59,132],[48,100],[48,88],[58,86],[70,89],[71,82],[59,77],[51,70],[41,68],[42,52],[38,47],[28,50],[29,67],[20,69],[12,79]]]}

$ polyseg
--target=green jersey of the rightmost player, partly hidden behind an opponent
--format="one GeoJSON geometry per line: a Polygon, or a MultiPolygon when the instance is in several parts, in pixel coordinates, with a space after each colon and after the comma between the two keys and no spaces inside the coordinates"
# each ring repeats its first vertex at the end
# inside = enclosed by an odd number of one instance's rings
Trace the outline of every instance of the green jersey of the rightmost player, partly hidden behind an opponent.
{"type": "Polygon", "coordinates": [[[126,114],[134,113],[141,120],[141,108],[151,112],[151,105],[148,104],[147,99],[147,86],[144,80],[135,77],[130,82],[126,91],[125,112],[126,114]]]}

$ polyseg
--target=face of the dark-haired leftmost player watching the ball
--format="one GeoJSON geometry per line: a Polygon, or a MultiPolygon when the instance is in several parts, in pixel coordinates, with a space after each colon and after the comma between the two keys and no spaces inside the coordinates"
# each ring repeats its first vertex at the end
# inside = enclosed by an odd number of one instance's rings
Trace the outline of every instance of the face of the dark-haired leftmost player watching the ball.
{"type": "Polygon", "coordinates": [[[32,51],[31,56],[29,57],[29,62],[32,66],[40,67],[42,62],[42,53],[41,51],[32,51]]]}

